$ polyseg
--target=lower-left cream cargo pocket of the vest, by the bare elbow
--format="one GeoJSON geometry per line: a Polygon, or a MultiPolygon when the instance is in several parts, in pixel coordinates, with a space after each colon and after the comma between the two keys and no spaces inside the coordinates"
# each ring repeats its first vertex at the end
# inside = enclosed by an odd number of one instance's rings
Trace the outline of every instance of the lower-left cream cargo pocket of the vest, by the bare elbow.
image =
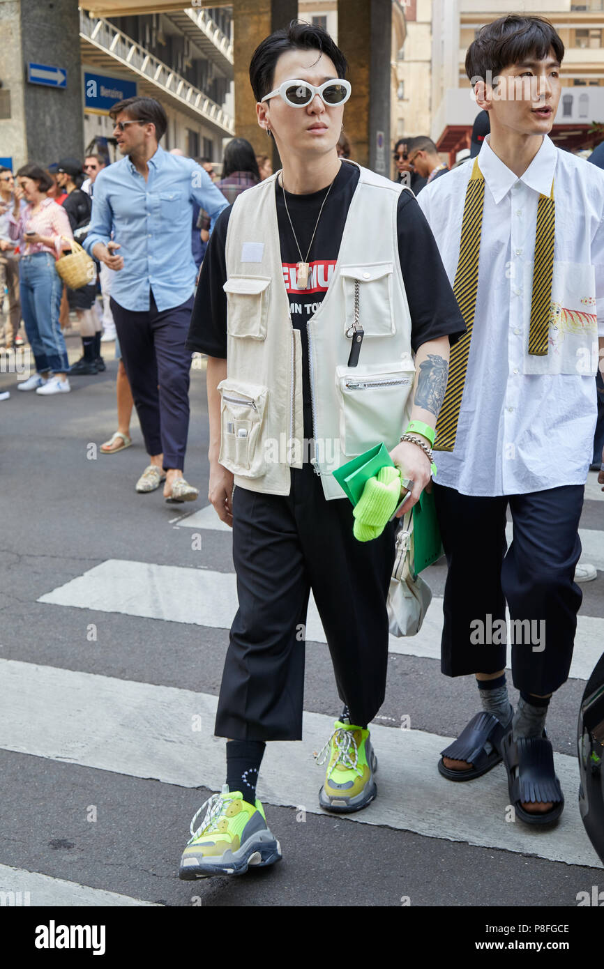
{"type": "Polygon", "coordinates": [[[220,464],[242,478],[260,478],[267,472],[261,441],[267,388],[233,380],[218,385],[220,406],[220,464]]]}

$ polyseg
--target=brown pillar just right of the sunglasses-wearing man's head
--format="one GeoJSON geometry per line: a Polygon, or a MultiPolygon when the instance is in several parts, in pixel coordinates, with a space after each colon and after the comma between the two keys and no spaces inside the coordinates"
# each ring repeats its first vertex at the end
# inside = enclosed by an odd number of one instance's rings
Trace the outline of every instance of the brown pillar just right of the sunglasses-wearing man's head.
{"type": "Polygon", "coordinates": [[[339,0],[337,44],[348,61],[352,84],[344,128],[353,158],[388,177],[392,0],[339,0]]]}

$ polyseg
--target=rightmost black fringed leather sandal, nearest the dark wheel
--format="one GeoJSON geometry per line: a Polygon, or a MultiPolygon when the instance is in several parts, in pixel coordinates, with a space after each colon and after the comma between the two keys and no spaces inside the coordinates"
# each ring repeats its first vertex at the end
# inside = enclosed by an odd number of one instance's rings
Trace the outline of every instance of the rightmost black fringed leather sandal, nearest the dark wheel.
{"type": "Polygon", "coordinates": [[[526,825],[552,825],[564,809],[564,795],[554,767],[552,742],[543,732],[540,737],[514,739],[512,731],[501,745],[503,763],[507,770],[510,803],[516,817],[526,825]],[[551,811],[533,813],[525,811],[522,802],[553,801],[551,811]]]}

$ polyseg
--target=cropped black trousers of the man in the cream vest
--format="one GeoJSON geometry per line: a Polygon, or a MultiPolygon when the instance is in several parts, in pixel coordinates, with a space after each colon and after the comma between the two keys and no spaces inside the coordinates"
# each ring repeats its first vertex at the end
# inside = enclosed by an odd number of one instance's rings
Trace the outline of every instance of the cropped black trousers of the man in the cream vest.
{"type": "Polygon", "coordinates": [[[237,487],[233,558],[238,613],[220,688],[215,732],[234,740],[302,737],[304,624],[312,589],[340,699],[367,724],[384,701],[386,599],[395,524],[378,539],[353,536],[348,499],[326,501],[307,464],[287,496],[237,487]]]}

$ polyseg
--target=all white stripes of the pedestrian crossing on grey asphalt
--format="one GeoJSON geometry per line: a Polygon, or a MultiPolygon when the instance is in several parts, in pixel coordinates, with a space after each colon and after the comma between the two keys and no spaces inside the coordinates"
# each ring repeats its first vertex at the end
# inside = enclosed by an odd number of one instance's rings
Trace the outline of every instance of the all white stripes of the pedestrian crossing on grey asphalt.
{"type": "MultiPolygon", "coordinates": [[[[192,534],[198,529],[231,532],[211,507],[175,516],[170,524],[188,528],[192,534]]],[[[598,567],[604,568],[603,533],[585,532],[588,544],[592,542],[589,547],[599,551],[600,558],[585,557],[590,561],[595,558],[594,564],[600,561],[598,567]]],[[[230,538],[224,542],[228,548],[230,538]]],[[[237,588],[233,573],[215,571],[207,563],[185,568],[108,559],[50,589],[37,601],[61,610],[121,613],[227,630],[237,610],[237,588]]],[[[390,651],[438,659],[441,629],[442,599],[434,597],[421,633],[408,640],[391,637],[390,651]]],[[[326,643],[312,600],[306,638],[326,643]]],[[[604,619],[580,615],[572,677],[588,678],[603,643],[604,619]]],[[[224,781],[225,761],[224,741],[212,737],[215,707],[216,697],[209,693],[0,659],[0,748],[43,758],[49,764],[152,778],[184,788],[203,784],[218,790],[224,781]],[[24,695],[27,708],[22,703],[24,695]],[[32,708],[35,717],[28,713],[32,708]]],[[[405,726],[401,724],[401,728],[405,726]]],[[[333,717],[305,711],[302,742],[268,745],[259,784],[259,797],[266,805],[325,817],[317,800],[323,768],[315,765],[313,754],[324,745],[332,728],[333,717]]],[[[472,783],[451,784],[435,769],[439,752],[451,738],[413,729],[413,724],[410,729],[397,729],[374,723],[371,735],[379,760],[379,797],[366,810],[347,816],[347,822],[601,868],[577,808],[579,769],[574,754],[555,754],[556,772],[567,800],[561,822],[552,831],[535,833],[509,820],[503,766],[481,778],[479,789],[472,783]]],[[[574,751],[574,743],[571,749],[574,751]]],[[[334,824],[341,820],[334,819],[334,824]]],[[[183,819],[183,825],[187,821],[183,819]]],[[[179,842],[177,850],[180,848],[179,842]]],[[[132,895],[0,865],[0,892],[18,891],[25,883],[29,891],[35,888],[38,897],[44,899],[35,904],[153,904],[132,895]]]]}

